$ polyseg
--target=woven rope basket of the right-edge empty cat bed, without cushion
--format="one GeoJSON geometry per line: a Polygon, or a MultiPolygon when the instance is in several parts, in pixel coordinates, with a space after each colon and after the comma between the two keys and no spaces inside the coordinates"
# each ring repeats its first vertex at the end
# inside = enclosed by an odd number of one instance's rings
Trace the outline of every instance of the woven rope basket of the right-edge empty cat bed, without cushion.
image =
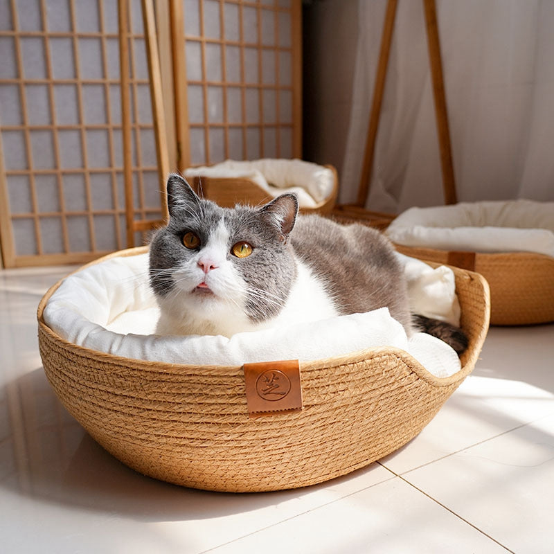
{"type": "MultiPolygon", "coordinates": [[[[451,252],[405,247],[397,251],[438,264],[457,265],[451,252]]],[[[472,269],[490,286],[492,325],[531,325],[554,321],[554,258],[530,252],[470,253],[472,269]]]]}

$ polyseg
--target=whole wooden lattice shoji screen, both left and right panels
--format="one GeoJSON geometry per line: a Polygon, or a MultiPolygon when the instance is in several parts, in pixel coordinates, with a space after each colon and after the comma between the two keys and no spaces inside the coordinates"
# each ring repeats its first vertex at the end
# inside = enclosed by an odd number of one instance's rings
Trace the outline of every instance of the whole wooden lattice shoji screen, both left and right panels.
{"type": "MultiPolygon", "coordinates": [[[[141,0],[129,3],[132,215],[144,222],[161,219],[160,183],[141,0]]],[[[301,1],[154,5],[168,41],[171,168],[300,156],[301,1]]],[[[117,0],[0,0],[6,267],[79,263],[129,243],[119,53],[117,0]]]]}

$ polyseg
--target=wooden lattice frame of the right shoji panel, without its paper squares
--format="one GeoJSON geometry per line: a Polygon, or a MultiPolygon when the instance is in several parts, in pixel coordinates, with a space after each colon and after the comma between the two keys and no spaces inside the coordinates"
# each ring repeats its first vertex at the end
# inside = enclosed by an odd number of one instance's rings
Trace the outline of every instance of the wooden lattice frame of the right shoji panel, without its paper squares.
{"type": "MultiPolygon", "coordinates": [[[[215,2],[213,2],[215,3],[215,2]]],[[[301,1],[291,0],[289,6],[283,7],[281,3],[260,3],[256,1],[239,0],[217,0],[219,5],[219,36],[208,36],[204,24],[204,2],[198,2],[198,32],[192,33],[186,29],[186,15],[183,10],[183,3],[179,0],[170,0],[171,12],[171,36],[173,54],[173,79],[175,82],[175,116],[177,118],[177,168],[184,171],[190,166],[211,164],[223,159],[233,157],[238,159],[254,159],[257,157],[301,157],[301,1]],[[228,37],[225,31],[226,10],[236,10],[239,22],[238,37],[228,37]],[[247,30],[244,20],[253,12],[256,14],[256,38],[247,37],[247,30]],[[289,21],[288,37],[284,38],[285,30],[280,28],[280,19],[289,21]],[[273,42],[262,36],[263,21],[272,21],[273,42]],[[187,46],[193,45],[200,50],[201,66],[199,75],[187,75],[185,62],[185,51],[187,46]],[[220,67],[214,72],[219,73],[220,78],[208,76],[208,48],[220,51],[220,67]],[[236,49],[240,53],[239,71],[240,78],[233,80],[229,77],[229,64],[227,57],[229,48],[236,49]],[[256,53],[257,66],[256,77],[249,81],[245,56],[247,53],[256,53]],[[271,60],[271,56],[273,59],[271,60]],[[290,75],[280,75],[280,66],[283,65],[281,57],[289,56],[290,75]],[[276,69],[275,82],[264,82],[263,63],[268,60],[274,64],[276,69]],[[189,94],[191,87],[202,89],[202,114],[191,121],[189,116],[189,94]],[[228,95],[229,91],[240,93],[240,111],[242,118],[231,120],[228,95]],[[213,120],[208,111],[209,93],[220,91],[222,96],[221,119],[213,120]],[[253,93],[253,94],[252,94],[253,93]],[[254,95],[254,96],[253,96],[254,95]],[[271,95],[274,95],[274,117],[269,119],[265,113],[265,107],[271,102],[271,95]],[[287,120],[280,102],[283,95],[290,95],[290,118],[287,120]],[[247,98],[248,97],[248,98],[247,98]],[[249,121],[247,108],[249,100],[258,102],[258,114],[256,121],[249,121]],[[221,130],[224,136],[223,156],[217,157],[213,154],[210,142],[210,134],[221,130]],[[230,138],[231,132],[238,130],[242,135],[240,150],[242,155],[235,156],[233,141],[230,138]],[[203,159],[195,158],[191,147],[197,143],[191,139],[191,134],[198,132],[202,134],[202,145],[199,150],[204,151],[203,159]],[[259,136],[259,152],[254,155],[250,150],[249,133],[259,136]],[[272,132],[275,132],[275,147],[269,144],[268,139],[272,132]],[[290,132],[289,148],[283,139],[283,132],[290,132]]],[[[211,65],[213,67],[213,65],[211,65]]],[[[213,105],[213,102],[212,102],[213,105]]]]}

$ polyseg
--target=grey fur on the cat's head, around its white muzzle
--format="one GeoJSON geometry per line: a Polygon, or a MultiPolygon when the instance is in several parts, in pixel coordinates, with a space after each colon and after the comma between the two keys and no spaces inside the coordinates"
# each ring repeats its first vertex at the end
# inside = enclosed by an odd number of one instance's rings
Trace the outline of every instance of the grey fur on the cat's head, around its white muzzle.
{"type": "Polygon", "coordinates": [[[251,289],[265,294],[249,294],[246,311],[253,322],[276,316],[287,301],[296,278],[296,265],[287,244],[287,235],[294,225],[298,202],[293,195],[284,195],[262,208],[236,206],[221,208],[199,199],[179,175],[168,180],[168,207],[170,222],[157,231],[150,245],[150,284],[154,293],[167,296],[175,283],[169,271],[192,253],[181,242],[187,231],[194,231],[206,244],[220,220],[230,232],[229,254],[235,269],[251,289]],[[289,213],[294,211],[292,224],[289,213]],[[238,260],[231,255],[231,247],[245,241],[254,247],[253,254],[238,260]]]}

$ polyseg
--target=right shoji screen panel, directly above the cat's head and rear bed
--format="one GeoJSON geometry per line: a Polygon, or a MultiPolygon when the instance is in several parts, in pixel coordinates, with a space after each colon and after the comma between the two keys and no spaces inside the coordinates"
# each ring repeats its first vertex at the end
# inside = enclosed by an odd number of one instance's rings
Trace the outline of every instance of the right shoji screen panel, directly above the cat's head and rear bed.
{"type": "Polygon", "coordinates": [[[179,168],[301,155],[300,0],[175,0],[179,168]]]}

